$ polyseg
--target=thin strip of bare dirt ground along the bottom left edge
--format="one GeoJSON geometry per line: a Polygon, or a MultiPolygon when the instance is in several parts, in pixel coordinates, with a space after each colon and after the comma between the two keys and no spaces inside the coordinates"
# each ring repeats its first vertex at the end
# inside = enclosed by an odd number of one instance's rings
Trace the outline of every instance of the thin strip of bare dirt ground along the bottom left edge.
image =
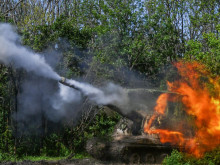
{"type": "MultiPolygon", "coordinates": [[[[22,161],[22,162],[2,162],[1,165],[125,165],[116,162],[103,162],[92,158],[89,159],[72,159],[72,160],[59,160],[59,161],[22,161]]],[[[153,165],[153,164],[151,164],[153,165]]],[[[156,165],[156,164],[154,164],[156,165]]],[[[157,164],[159,165],[159,164],[157,164]]]]}

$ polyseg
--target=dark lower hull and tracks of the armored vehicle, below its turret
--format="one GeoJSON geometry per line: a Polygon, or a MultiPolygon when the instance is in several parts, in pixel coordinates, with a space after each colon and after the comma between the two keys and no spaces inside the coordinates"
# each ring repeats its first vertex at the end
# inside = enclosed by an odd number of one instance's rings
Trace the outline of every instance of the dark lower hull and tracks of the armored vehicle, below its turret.
{"type": "Polygon", "coordinates": [[[162,144],[157,135],[124,136],[106,142],[93,138],[86,145],[87,152],[101,160],[123,163],[161,163],[174,146],[162,144]]]}

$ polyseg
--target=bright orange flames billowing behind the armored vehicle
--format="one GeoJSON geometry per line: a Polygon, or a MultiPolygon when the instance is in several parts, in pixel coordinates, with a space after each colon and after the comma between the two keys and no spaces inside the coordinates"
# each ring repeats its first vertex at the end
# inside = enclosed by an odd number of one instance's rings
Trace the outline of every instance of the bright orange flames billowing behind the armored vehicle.
{"type": "MultiPolygon", "coordinates": [[[[152,122],[164,115],[168,101],[177,101],[177,96],[164,93],[159,96],[154,114],[145,123],[144,131],[159,134],[162,143],[171,143],[196,157],[201,157],[220,144],[220,77],[211,77],[205,67],[197,62],[174,64],[181,78],[167,82],[170,92],[181,95],[184,110],[194,117],[195,135],[187,137],[184,132],[165,129],[151,129],[152,122]]],[[[179,97],[178,96],[178,97],[179,97]]]]}

